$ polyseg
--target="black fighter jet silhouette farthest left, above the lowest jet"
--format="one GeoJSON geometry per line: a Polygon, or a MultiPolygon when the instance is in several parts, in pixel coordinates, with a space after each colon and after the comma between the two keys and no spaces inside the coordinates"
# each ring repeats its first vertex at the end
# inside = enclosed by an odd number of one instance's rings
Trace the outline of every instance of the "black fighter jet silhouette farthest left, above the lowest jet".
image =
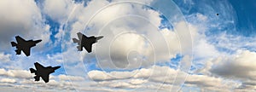
{"type": "Polygon", "coordinates": [[[11,44],[12,44],[12,47],[16,46],[16,50],[15,50],[16,55],[20,55],[21,50],[22,50],[23,53],[26,56],[29,56],[30,55],[30,49],[32,47],[36,46],[37,43],[42,41],[42,40],[36,40],[36,41],[28,40],[28,41],[26,41],[25,39],[21,38],[20,36],[16,36],[15,38],[16,38],[17,43],[11,42],[11,44]]]}

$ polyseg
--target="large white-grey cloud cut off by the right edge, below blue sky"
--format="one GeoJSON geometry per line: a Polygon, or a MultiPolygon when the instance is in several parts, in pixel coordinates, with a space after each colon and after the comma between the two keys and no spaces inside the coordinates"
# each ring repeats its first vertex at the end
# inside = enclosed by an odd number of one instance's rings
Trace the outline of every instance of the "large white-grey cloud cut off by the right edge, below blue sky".
{"type": "Polygon", "coordinates": [[[256,53],[238,51],[234,56],[216,61],[209,71],[226,78],[256,79],[256,53]]]}

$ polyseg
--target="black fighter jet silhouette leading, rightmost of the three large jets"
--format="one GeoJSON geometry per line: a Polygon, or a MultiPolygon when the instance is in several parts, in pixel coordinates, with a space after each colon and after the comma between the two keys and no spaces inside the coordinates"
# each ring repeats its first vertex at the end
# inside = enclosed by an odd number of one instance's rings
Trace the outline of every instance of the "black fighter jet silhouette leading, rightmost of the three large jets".
{"type": "Polygon", "coordinates": [[[79,39],[73,38],[73,43],[78,43],[79,44],[79,46],[77,46],[79,51],[83,51],[83,47],[84,47],[84,49],[86,49],[88,53],[91,52],[92,44],[97,43],[97,40],[99,40],[103,37],[103,36],[100,36],[100,37],[94,37],[94,36],[86,37],[81,32],[78,32],[77,34],[78,34],[79,39]]]}

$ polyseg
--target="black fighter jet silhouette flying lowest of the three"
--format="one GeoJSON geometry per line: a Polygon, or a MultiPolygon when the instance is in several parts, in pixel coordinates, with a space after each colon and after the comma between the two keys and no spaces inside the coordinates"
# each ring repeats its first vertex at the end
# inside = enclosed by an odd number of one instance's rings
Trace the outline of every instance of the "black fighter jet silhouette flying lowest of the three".
{"type": "Polygon", "coordinates": [[[35,81],[39,81],[40,77],[43,78],[45,83],[49,82],[49,74],[55,72],[56,69],[60,68],[61,66],[55,66],[55,67],[51,67],[51,66],[47,66],[44,67],[42,65],[40,65],[38,62],[34,63],[35,67],[37,70],[30,68],[30,72],[31,73],[35,73],[35,81]]]}

